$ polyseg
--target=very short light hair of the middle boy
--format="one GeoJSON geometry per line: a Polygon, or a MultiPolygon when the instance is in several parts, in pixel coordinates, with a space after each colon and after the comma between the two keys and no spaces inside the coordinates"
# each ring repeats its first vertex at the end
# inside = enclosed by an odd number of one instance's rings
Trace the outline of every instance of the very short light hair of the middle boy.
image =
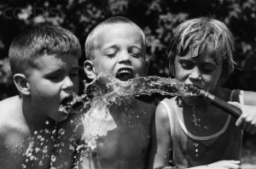
{"type": "Polygon", "coordinates": [[[104,29],[109,25],[118,25],[118,24],[127,24],[132,25],[141,33],[143,37],[143,54],[146,54],[146,38],[142,31],[142,29],[136,25],[133,21],[122,17],[122,16],[114,16],[107,20],[102,21],[99,25],[90,31],[88,37],[86,38],[84,49],[85,49],[85,57],[86,59],[94,59],[94,55],[92,52],[97,48],[96,37],[104,31],[104,29]]]}

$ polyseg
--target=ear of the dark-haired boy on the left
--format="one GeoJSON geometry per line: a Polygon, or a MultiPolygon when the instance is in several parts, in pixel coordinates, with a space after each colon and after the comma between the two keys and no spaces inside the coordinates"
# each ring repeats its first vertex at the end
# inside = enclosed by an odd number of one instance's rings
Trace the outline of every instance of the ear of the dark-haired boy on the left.
{"type": "Polygon", "coordinates": [[[20,73],[15,74],[14,82],[16,88],[21,94],[29,95],[30,94],[30,85],[27,82],[26,76],[20,73]]]}

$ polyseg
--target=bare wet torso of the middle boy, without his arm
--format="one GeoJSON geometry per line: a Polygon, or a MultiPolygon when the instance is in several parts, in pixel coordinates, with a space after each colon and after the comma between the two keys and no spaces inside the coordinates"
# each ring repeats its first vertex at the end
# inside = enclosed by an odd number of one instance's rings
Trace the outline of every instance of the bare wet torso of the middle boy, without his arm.
{"type": "Polygon", "coordinates": [[[146,167],[154,106],[136,100],[127,108],[113,104],[107,113],[84,116],[80,144],[85,143],[88,149],[80,168],[146,167]]]}

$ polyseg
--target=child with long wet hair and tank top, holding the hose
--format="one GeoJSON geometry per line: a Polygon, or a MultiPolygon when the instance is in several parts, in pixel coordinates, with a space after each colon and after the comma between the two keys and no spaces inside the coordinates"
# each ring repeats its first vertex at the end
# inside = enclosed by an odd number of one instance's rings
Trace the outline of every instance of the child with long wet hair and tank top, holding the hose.
{"type": "Polygon", "coordinates": [[[237,120],[193,95],[162,100],[155,111],[149,168],[241,168],[241,129],[255,133],[255,110],[248,105],[256,105],[256,93],[222,87],[234,70],[233,54],[234,38],[221,21],[202,17],[177,26],[169,55],[172,75],[247,106],[237,120]]]}

